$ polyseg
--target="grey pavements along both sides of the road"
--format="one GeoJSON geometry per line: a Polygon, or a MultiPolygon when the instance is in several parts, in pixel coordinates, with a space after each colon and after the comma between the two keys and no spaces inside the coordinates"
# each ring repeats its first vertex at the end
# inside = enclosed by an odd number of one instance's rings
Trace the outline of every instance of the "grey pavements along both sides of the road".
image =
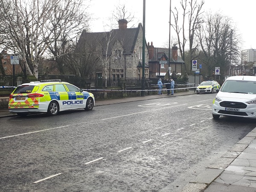
{"type": "MultiPolygon", "coordinates": [[[[95,107],[140,100],[195,94],[194,90],[174,95],[148,95],[122,99],[96,100],[95,107]]],[[[17,116],[0,109],[0,118],[17,116]]],[[[214,164],[193,178],[180,192],[256,192],[256,128],[233,145],[214,164]]]]}

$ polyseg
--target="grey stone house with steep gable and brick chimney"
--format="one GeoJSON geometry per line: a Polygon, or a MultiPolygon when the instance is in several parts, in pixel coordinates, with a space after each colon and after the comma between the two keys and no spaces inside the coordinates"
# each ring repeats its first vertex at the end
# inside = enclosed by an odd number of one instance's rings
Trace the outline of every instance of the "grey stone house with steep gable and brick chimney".
{"type": "MultiPolygon", "coordinates": [[[[127,20],[118,21],[119,29],[110,32],[83,30],[78,49],[83,53],[97,53],[97,64],[89,78],[141,78],[143,26],[127,28],[127,20]]],[[[148,78],[148,48],[145,43],[145,78],[148,78]]]]}

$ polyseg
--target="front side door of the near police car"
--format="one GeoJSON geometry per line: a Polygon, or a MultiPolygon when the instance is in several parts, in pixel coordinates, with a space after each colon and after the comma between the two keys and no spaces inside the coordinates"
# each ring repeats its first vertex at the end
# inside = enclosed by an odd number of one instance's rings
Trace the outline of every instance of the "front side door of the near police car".
{"type": "Polygon", "coordinates": [[[84,95],[80,89],[72,84],[65,84],[68,89],[68,94],[71,96],[71,108],[85,108],[84,95]]]}

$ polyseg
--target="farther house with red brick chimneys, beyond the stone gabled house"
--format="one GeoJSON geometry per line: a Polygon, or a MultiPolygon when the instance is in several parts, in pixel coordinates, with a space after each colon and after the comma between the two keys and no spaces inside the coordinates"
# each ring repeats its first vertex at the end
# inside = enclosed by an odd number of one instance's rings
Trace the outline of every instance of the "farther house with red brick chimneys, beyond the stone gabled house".
{"type": "MultiPolygon", "coordinates": [[[[169,57],[169,48],[154,47],[152,42],[151,45],[149,45],[148,42],[148,52],[149,78],[163,78],[166,75],[166,72],[168,72],[169,64],[167,61],[169,57]],[[162,61],[166,62],[164,63],[162,61]]],[[[183,64],[185,64],[185,62],[178,55],[178,48],[173,46],[172,49],[170,49],[170,75],[172,75],[172,72],[181,75],[181,73],[183,73],[183,64]]]]}

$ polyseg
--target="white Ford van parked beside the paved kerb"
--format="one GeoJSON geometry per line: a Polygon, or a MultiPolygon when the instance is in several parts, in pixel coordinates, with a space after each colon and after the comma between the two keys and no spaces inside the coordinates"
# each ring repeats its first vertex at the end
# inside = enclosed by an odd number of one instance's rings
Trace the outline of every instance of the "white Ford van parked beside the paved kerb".
{"type": "Polygon", "coordinates": [[[256,119],[256,76],[226,79],[212,102],[212,117],[220,115],[256,119]]]}

